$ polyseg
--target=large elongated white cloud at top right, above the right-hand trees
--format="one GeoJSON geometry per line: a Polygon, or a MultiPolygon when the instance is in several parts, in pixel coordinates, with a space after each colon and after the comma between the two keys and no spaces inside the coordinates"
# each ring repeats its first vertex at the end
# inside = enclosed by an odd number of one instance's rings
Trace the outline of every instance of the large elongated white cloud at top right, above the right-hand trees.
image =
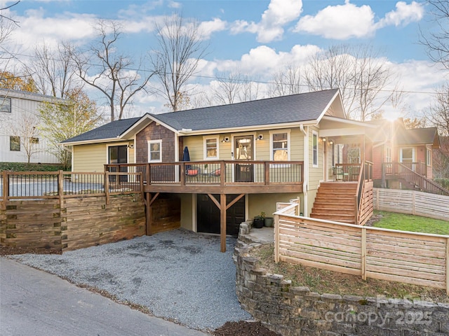
{"type": "Polygon", "coordinates": [[[421,3],[399,1],[396,10],[391,10],[379,22],[375,22],[375,13],[370,6],[356,6],[345,0],[344,5],[327,6],[316,15],[304,16],[297,22],[294,31],[337,40],[363,38],[373,36],[377,29],[389,25],[408,25],[420,21],[423,13],[421,3]]]}

